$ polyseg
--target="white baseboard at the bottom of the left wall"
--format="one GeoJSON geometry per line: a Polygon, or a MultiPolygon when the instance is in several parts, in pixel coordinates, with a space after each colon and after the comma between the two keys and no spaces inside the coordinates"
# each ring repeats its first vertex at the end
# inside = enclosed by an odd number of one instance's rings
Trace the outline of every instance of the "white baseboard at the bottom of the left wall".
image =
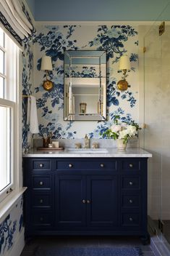
{"type": "Polygon", "coordinates": [[[4,256],[20,256],[22,249],[25,247],[25,228],[18,234],[17,239],[14,241],[14,245],[4,256]]]}

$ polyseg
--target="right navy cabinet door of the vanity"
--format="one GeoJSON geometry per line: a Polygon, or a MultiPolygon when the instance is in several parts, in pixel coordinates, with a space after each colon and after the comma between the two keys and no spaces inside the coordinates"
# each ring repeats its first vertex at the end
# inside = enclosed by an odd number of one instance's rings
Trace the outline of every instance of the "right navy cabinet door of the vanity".
{"type": "Polygon", "coordinates": [[[118,182],[116,175],[87,177],[88,226],[118,226],[118,182]]]}

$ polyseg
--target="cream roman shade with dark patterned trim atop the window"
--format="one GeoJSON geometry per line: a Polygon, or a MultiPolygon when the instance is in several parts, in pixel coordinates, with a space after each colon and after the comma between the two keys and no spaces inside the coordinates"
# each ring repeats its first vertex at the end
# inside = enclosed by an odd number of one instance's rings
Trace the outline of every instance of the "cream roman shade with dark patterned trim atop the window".
{"type": "Polygon", "coordinates": [[[19,0],[0,1],[0,23],[21,46],[35,33],[25,5],[19,0]]]}

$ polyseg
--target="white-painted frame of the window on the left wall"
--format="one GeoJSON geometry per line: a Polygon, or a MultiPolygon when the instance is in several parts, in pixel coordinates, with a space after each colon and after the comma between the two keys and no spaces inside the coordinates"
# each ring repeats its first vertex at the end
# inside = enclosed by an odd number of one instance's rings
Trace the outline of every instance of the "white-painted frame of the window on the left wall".
{"type": "Polygon", "coordinates": [[[18,47],[16,47],[15,51],[13,52],[12,46],[9,42],[9,37],[6,33],[4,33],[4,47],[1,47],[1,49],[5,52],[4,56],[4,74],[0,73],[0,76],[5,79],[4,82],[4,97],[8,98],[8,100],[4,98],[0,98],[0,105],[4,107],[9,107],[11,110],[11,148],[10,148],[10,161],[11,161],[11,182],[7,187],[5,187],[2,191],[0,191],[0,203],[4,199],[6,199],[9,195],[12,195],[16,190],[19,188],[19,172],[20,172],[20,163],[19,163],[19,147],[20,147],[20,121],[19,121],[19,54],[20,50],[18,47]],[[8,51],[7,46],[11,47],[10,51],[8,51]],[[14,55],[14,60],[16,60],[16,63],[11,63],[12,56],[10,53],[14,55]],[[8,55],[9,53],[9,55],[8,55]],[[13,72],[12,72],[13,71],[13,72]],[[14,80],[12,80],[14,79],[14,80]],[[12,82],[14,81],[14,83],[12,82]],[[15,88],[14,91],[12,91],[12,86],[15,88]],[[11,93],[12,92],[12,93],[11,93]],[[8,96],[8,97],[7,97],[8,96]]]}

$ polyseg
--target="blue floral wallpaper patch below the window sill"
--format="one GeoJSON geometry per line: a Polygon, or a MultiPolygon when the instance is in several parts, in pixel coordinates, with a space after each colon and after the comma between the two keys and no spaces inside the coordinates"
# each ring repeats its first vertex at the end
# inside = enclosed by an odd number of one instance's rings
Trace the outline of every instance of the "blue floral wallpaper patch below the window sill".
{"type": "Polygon", "coordinates": [[[17,239],[23,227],[23,198],[18,199],[12,211],[0,224],[0,256],[5,255],[17,239]]]}

